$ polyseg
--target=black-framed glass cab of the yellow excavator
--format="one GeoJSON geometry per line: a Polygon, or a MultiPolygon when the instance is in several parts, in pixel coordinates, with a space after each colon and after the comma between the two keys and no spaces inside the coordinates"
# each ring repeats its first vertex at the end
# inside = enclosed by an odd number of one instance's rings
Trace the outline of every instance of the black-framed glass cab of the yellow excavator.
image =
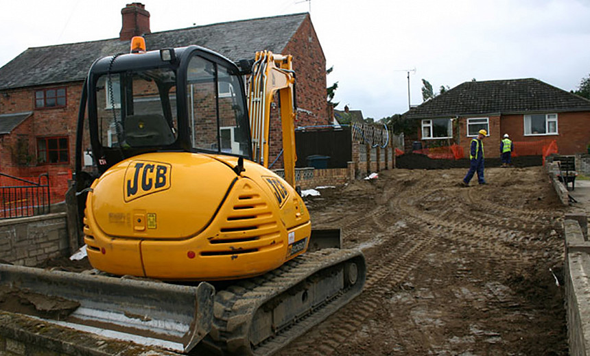
{"type": "Polygon", "coordinates": [[[241,72],[206,49],[97,60],[85,90],[98,175],[121,160],[155,151],[251,156],[241,72]]]}

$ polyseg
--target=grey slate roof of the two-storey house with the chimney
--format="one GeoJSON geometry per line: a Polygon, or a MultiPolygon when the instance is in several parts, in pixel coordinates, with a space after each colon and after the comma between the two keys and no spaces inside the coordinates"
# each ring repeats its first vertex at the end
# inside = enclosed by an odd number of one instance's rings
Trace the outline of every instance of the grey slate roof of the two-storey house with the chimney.
{"type": "MultiPolygon", "coordinates": [[[[230,60],[253,58],[256,51],[281,53],[307,13],[254,18],[174,29],[145,35],[147,49],[185,47],[211,49],[230,60]]],[[[129,51],[119,38],[25,50],[0,68],[0,90],[82,81],[97,58],[129,51]]]]}

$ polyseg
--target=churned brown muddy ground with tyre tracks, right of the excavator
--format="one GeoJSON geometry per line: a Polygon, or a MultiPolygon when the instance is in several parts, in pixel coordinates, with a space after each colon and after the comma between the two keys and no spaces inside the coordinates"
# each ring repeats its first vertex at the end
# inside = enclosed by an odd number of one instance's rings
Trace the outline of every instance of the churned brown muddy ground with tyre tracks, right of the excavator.
{"type": "Polygon", "coordinates": [[[280,355],[567,355],[566,208],[541,167],[461,188],[466,172],[390,170],[307,199],[314,227],[364,251],[367,282],[280,355]]]}

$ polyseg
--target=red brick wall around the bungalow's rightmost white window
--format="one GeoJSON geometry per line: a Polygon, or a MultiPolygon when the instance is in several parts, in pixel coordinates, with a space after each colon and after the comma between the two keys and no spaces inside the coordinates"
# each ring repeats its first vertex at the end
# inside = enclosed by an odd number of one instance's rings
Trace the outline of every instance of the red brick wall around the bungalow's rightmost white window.
{"type": "MultiPolygon", "coordinates": [[[[548,112],[547,114],[552,114],[548,112]]],[[[524,116],[503,115],[502,135],[521,142],[556,140],[561,155],[585,153],[590,142],[590,112],[561,112],[557,114],[558,135],[524,136],[524,116]]]]}

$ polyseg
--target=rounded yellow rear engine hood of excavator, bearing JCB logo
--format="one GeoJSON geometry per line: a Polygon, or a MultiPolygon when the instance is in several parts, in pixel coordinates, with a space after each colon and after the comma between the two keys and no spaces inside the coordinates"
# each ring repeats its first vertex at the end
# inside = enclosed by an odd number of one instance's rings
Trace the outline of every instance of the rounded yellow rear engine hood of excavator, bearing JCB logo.
{"type": "Polygon", "coordinates": [[[213,219],[237,175],[198,153],[148,153],[111,167],[87,208],[107,236],[182,240],[213,219]]]}

